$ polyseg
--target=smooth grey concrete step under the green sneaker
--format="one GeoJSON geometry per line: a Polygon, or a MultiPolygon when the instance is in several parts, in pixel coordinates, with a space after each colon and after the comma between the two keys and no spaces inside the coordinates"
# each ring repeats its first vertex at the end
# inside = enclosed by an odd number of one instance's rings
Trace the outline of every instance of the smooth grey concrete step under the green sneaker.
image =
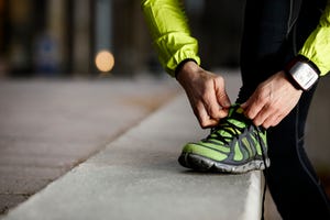
{"type": "Polygon", "coordinates": [[[178,165],[183,144],[206,132],[180,95],[3,219],[260,219],[260,172],[178,165]]]}

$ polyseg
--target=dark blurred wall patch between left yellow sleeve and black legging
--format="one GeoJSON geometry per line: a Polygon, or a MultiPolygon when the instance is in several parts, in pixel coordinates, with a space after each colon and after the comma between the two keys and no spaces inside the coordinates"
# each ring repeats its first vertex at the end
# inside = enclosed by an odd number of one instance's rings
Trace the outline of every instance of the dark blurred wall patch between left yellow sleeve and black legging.
{"type": "Polygon", "coordinates": [[[245,1],[186,0],[205,68],[238,67],[245,1]]]}

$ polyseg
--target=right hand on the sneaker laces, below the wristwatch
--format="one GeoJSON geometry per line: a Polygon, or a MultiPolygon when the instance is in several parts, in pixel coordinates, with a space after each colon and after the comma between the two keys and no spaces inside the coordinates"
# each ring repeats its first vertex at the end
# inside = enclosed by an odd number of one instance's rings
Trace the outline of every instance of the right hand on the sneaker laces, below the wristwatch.
{"type": "Polygon", "coordinates": [[[278,72],[262,82],[242,108],[255,125],[267,129],[277,125],[294,109],[301,94],[284,72],[278,72]]]}

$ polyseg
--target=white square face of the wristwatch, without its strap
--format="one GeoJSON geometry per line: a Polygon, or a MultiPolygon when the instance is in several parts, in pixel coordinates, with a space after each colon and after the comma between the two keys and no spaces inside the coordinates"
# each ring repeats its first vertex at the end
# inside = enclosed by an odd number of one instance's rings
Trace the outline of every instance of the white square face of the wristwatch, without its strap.
{"type": "Polygon", "coordinates": [[[319,78],[316,70],[309,64],[302,62],[297,62],[292,67],[290,74],[304,90],[308,90],[319,78]]]}

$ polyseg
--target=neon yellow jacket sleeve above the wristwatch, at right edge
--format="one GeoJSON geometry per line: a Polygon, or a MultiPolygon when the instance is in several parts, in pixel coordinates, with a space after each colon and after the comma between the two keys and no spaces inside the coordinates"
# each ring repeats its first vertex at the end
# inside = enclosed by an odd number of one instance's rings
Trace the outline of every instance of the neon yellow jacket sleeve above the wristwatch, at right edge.
{"type": "Polygon", "coordinates": [[[330,1],[321,15],[319,25],[309,35],[298,54],[311,61],[323,76],[330,70],[330,1]]]}

